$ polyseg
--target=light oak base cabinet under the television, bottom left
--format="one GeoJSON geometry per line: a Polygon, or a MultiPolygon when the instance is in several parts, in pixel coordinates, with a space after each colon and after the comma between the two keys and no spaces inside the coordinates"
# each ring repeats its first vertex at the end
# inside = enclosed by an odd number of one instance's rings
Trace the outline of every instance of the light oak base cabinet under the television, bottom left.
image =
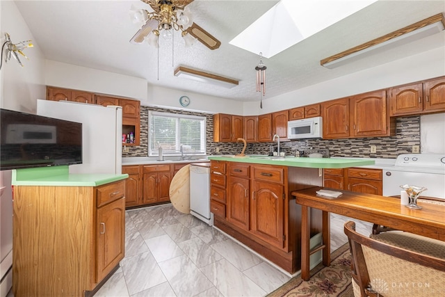
{"type": "Polygon", "coordinates": [[[124,258],[124,193],[123,180],[15,186],[14,295],[83,296],[111,275],[124,258]]]}

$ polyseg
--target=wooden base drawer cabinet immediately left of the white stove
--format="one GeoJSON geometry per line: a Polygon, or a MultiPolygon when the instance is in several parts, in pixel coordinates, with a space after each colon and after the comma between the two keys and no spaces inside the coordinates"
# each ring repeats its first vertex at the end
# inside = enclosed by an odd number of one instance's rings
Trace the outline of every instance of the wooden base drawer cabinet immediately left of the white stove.
{"type": "Polygon", "coordinates": [[[382,195],[382,170],[346,168],[346,186],[349,191],[382,195]]]}

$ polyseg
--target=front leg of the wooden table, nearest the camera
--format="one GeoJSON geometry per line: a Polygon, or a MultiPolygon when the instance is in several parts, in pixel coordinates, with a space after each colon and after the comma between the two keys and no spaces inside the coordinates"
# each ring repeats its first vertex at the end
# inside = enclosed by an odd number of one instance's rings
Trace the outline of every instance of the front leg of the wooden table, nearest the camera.
{"type": "Polygon", "coordinates": [[[301,278],[309,280],[310,278],[310,249],[309,241],[311,239],[311,212],[309,207],[301,206],[301,278]]]}

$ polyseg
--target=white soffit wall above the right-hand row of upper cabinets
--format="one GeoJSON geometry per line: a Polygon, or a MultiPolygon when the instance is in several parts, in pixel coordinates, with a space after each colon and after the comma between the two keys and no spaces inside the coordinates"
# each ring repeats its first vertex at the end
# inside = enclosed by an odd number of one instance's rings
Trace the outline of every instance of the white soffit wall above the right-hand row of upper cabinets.
{"type": "Polygon", "coordinates": [[[245,102],[243,111],[244,115],[271,113],[444,75],[442,47],[265,99],[263,109],[259,102],[245,102]]]}

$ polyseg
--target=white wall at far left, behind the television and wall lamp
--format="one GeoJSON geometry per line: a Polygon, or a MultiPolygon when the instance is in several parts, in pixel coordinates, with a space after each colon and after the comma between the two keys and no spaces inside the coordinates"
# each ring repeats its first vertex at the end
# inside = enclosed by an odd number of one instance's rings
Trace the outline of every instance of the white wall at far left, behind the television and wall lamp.
{"type": "MultiPolygon", "coordinates": [[[[11,41],[33,40],[33,35],[15,6],[14,1],[0,1],[0,34],[1,44],[5,33],[9,33],[11,41]]],[[[33,40],[34,47],[25,49],[24,54],[29,61],[20,58],[24,67],[11,58],[8,63],[3,61],[0,70],[0,107],[35,113],[39,97],[44,97],[44,57],[38,42],[33,40]]],[[[2,57],[3,58],[3,57],[2,57]]],[[[6,272],[13,263],[13,199],[11,191],[11,170],[0,171],[0,186],[3,193],[0,198],[0,296],[6,296],[12,285],[12,273],[6,272]],[[4,277],[4,278],[3,278],[4,277]]]]}

